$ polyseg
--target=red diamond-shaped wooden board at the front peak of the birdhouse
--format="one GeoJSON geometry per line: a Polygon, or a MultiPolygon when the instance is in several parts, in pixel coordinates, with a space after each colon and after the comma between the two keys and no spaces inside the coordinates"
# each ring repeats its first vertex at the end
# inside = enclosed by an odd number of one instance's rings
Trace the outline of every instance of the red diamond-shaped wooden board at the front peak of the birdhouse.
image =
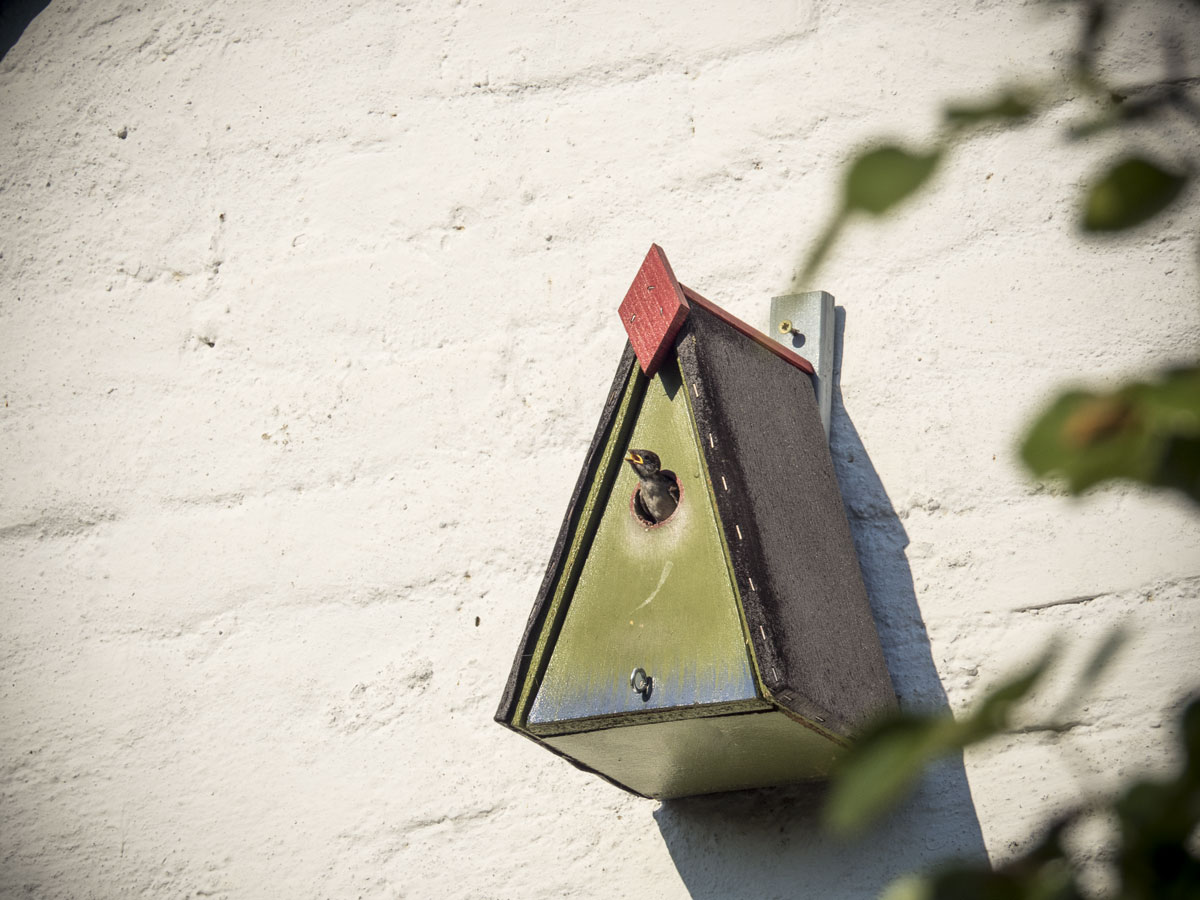
{"type": "Polygon", "coordinates": [[[642,371],[653,376],[671,353],[674,337],[688,318],[688,300],[658,244],[650,245],[618,312],[642,371]]]}

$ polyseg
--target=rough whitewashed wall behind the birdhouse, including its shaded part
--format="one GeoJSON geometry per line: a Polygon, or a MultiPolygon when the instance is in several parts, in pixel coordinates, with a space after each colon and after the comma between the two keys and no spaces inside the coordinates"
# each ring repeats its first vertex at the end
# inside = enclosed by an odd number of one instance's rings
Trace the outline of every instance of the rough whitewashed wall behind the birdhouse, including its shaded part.
{"type": "MultiPolygon", "coordinates": [[[[1105,56],[1134,80],[1147,22],[1105,56]]],[[[761,322],[848,148],[1073,36],[1008,2],[53,0],[0,64],[0,895],[870,898],[1170,766],[1200,517],[1013,454],[1064,380],[1200,338],[1194,204],[1073,233],[1121,148],[1061,139],[1081,100],[805,286],[842,308],[833,448],[901,700],[1123,623],[1074,727],[842,845],[817,788],[635,799],[491,722],[650,241],[761,322]]]]}

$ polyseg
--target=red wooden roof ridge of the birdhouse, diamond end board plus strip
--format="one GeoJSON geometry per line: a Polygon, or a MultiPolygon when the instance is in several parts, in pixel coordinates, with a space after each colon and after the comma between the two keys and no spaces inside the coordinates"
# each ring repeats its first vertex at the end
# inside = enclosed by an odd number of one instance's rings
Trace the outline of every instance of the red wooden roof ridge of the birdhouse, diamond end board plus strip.
{"type": "Polygon", "coordinates": [[[812,364],[798,353],[793,353],[712,300],[680,284],[662,247],[652,244],[646,259],[642,260],[642,268],[637,270],[634,283],[630,284],[625,299],[618,307],[620,324],[625,326],[629,342],[637,354],[637,361],[647,376],[653,376],[659,370],[667,353],[674,347],[676,335],[679,334],[691,311],[689,300],[755,343],[766,347],[785,362],[810,376],[816,374],[812,364]]]}

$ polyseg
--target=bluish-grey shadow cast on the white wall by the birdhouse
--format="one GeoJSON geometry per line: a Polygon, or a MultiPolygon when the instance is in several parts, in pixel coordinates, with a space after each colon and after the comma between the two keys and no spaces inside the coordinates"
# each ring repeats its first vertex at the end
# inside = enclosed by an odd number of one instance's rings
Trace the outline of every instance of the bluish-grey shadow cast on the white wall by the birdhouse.
{"type": "MultiPolygon", "coordinates": [[[[907,709],[948,702],[917,606],[900,524],[841,398],[846,312],[836,310],[832,448],[863,580],[892,683],[907,709]]],[[[985,859],[961,756],[854,841],[820,827],[823,784],[666,800],[654,812],[694,898],[876,898],[893,878],[948,858],[985,859]]]]}

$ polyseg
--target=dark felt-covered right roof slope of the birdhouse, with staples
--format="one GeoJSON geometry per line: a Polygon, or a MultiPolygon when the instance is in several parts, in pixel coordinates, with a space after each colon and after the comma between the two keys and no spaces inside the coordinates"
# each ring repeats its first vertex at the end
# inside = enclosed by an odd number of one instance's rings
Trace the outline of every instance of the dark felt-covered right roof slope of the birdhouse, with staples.
{"type": "Polygon", "coordinates": [[[895,694],[811,380],[701,306],[677,347],[763,685],[850,737],[895,694]]]}

